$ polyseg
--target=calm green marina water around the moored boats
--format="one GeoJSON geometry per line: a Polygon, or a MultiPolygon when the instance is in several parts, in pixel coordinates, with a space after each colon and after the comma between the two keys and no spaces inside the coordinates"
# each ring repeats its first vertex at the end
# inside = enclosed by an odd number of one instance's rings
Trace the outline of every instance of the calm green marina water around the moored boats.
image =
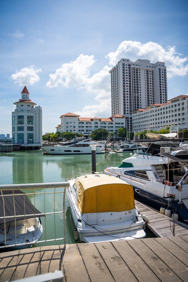
{"type": "MultiPolygon", "coordinates": [[[[129,157],[130,153],[114,153],[114,154],[97,154],[96,167],[97,171],[104,170],[105,165],[117,166],[122,160],[129,157]]],[[[0,184],[21,184],[21,183],[45,183],[45,182],[62,182],[65,181],[65,175],[72,171],[91,171],[91,155],[48,155],[43,154],[41,150],[21,151],[11,153],[0,153],[0,184]]],[[[71,174],[72,175],[72,174],[71,174]]],[[[42,191],[42,190],[41,190],[42,191]]],[[[49,191],[49,190],[48,190],[49,191]]],[[[54,191],[52,189],[52,191],[54,191]]],[[[56,191],[63,191],[59,188],[56,191]]],[[[32,191],[29,191],[32,192],[32,191]]],[[[34,203],[33,196],[29,199],[34,203]]],[[[63,202],[63,193],[55,196],[55,209],[58,210],[63,202]]],[[[44,195],[35,197],[35,205],[44,212],[44,195]]],[[[72,221],[68,199],[66,198],[66,243],[76,243],[74,240],[74,223],[72,221]]],[[[45,209],[50,212],[54,210],[53,194],[45,199],[45,209]]],[[[60,208],[61,209],[61,208],[60,208]]],[[[54,230],[56,238],[63,237],[63,215],[48,216],[46,222],[41,218],[43,232],[41,240],[54,238],[54,230]],[[55,222],[55,225],[54,225],[55,222]]],[[[149,234],[148,237],[154,237],[149,234]]],[[[47,243],[38,243],[40,245],[59,245],[63,241],[52,241],[47,243]]]]}

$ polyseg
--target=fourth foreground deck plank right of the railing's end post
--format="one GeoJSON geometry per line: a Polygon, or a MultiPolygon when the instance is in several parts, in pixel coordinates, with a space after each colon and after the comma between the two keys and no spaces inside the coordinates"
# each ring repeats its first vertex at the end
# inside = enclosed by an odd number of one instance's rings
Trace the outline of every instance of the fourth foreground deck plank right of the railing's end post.
{"type": "Polygon", "coordinates": [[[121,255],[122,259],[128,265],[129,269],[134,273],[138,281],[147,280],[152,282],[160,281],[147,264],[138,256],[138,254],[130,247],[127,242],[112,242],[114,248],[121,255]]]}

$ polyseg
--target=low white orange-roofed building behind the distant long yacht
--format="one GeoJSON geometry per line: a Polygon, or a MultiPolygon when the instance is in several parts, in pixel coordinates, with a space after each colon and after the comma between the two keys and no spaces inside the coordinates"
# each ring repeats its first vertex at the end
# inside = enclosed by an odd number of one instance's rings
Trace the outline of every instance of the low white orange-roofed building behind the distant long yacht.
{"type": "Polygon", "coordinates": [[[109,133],[117,132],[119,128],[126,127],[126,117],[114,115],[110,118],[81,118],[79,115],[68,112],[60,116],[61,124],[56,130],[62,132],[91,134],[92,131],[99,128],[105,128],[109,133]]]}

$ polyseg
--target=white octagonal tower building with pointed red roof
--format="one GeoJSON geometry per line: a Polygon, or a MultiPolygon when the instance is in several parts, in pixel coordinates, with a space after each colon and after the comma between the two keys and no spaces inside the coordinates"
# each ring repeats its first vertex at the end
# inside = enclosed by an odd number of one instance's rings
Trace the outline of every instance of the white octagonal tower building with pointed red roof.
{"type": "Polygon", "coordinates": [[[21,94],[12,112],[13,144],[21,144],[22,147],[42,146],[42,108],[35,107],[36,104],[29,99],[26,86],[21,94]]]}

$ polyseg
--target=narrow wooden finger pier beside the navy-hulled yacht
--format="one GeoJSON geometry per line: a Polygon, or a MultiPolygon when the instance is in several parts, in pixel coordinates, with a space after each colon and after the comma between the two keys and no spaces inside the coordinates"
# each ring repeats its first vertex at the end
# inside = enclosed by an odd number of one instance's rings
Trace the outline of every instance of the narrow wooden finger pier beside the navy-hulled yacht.
{"type": "Polygon", "coordinates": [[[145,206],[144,204],[135,201],[135,205],[141,214],[144,214],[149,219],[149,223],[146,226],[157,236],[157,237],[174,237],[181,235],[188,235],[188,224],[180,221],[174,221],[174,234],[173,234],[173,220],[169,217],[154,211],[153,209],[145,206]]]}

